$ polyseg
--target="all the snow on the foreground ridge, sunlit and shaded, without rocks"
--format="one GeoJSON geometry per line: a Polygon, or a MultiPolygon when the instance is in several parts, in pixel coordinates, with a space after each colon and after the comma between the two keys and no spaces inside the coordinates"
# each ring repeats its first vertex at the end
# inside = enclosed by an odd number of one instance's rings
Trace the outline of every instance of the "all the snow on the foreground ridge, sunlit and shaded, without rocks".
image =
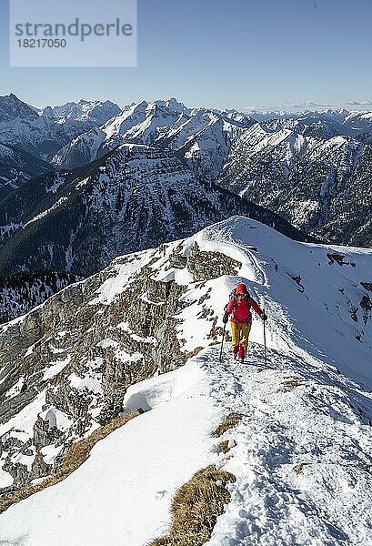
{"type": "MultiPolygon", "coordinates": [[[[299,243],[233,217],[164,252],[134,254],[128,263],[119,258],[90,303],[116,301],[150,260],[154,278],[185,281],[182,300],[189,305],[176,314],[182,350],[204,349],[184,367],[129,387],[124,411],[145,413],[99,442],[66,480],[1,514],[0,542],[144,546],[166,533],[176,489],[215,464],[236,482],[227,486],[231,501],[207,546],[369,546],[372,317],[359,304],[367,293],[361,282],[371,282],[372,250],[299,243]],[[195,242],[240,262],[237,275],[195,283],[186,269],[169,268],[173,250],[187,256],[195,242]],[[328,258],[335,252],[345,255],[344,265],[328,258]],[[202,309],[210,308],[221,327],[238,281],[266,309],[266,362],[263,324],[255,315],[244,365],[232,359],[227,343],[219,361],[220,346],[208,338],[212,321],[202,309]],[[214,439],[211,433],[231,412],[241,422],[214,439]],[[218,453],[221,440],[227,453],[218,453]]],[[[136,336],[126,322],[116,329],[136,336]]],[[[141,358],[116,339],[100,346],[113,348],[117,359],[141,358]]],[[[70,374],[75,389],[94,387],[94,365],[89,368],[84,378],[70,374]]],[[[12,427],[29,432],[44,403],[41,393],[0,426],[0,435],[12,427]]],[[[44,411],[49,426],[65,419],[54,408],[44,411]]],[[[52,446],[43,450],[48,460],[55,453],[52,446]]]]}

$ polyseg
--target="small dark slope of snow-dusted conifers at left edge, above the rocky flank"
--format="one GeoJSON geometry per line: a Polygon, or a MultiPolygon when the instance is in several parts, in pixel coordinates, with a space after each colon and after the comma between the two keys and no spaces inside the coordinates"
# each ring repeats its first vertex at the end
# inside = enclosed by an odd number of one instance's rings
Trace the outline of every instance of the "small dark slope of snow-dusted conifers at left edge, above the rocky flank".
{"type": "Polygon", "coordinates": [[[37,269],[0,277],[0,323],[24,315],[56,292],[78,280],[68,271],[37,269]]]}

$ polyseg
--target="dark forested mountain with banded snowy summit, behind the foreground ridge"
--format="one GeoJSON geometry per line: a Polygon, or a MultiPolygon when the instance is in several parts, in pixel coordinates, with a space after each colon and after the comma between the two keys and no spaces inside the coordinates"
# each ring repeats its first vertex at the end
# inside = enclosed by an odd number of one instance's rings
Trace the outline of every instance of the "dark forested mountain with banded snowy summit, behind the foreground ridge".
{"type": "Polygon", "coordinates": [[[0,202],[0,275],[35,268],[88,275],[123,253],[242,214],[310,240],[282,217],[216,187],[171,152],[121,145],[73,171],[35,178],[0,202]]]}

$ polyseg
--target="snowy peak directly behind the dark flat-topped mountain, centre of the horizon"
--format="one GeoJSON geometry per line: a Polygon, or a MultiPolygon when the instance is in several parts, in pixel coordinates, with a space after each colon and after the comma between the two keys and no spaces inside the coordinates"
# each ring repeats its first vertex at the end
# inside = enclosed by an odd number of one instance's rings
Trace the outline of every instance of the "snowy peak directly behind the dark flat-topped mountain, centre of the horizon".
{"type": "Polygon", "coordinates": [[[126,106],[104,126],[75,139],[53,158],[58,167],[79,167],[122,143],[169,147],[203,177],[216,179],[232,142],[254,123],[235,113],[193,110],[176,99],[126,106]],[[84,162],[84,161],[83,161],[84,162]]]}

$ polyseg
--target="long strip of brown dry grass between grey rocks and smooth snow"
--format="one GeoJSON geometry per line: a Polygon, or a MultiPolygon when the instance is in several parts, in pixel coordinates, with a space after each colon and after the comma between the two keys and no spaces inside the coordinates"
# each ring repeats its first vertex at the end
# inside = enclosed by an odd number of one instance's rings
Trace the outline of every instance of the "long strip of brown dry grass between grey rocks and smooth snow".
{"type": "Polygon", "coordinates": [[[123,417],[116,417],[116,419],[111,420],[109,423],[95,430],[88,438],[80,440],[71,445],[69,450],[65,452],[64,460],[62,461],[61,466],[54,474],[45,478],[45,480],[35,485],[29,485],[23,490],[16,491],[11,497],[4,499],[0,502],[0,514],[7,510],[15,502],[24,501],[27,497],[30,497],[38,491],[44,490],[51,485],[55,485],[59,481],[65,480],[67,476],[72,474],[76,469],[79,468],[89,457],[90,451],[96,445],[99,440],[103,440],[111,432],[116,429],[119,429],[125,425],[129,420],[133,419],[140,415],[139,411],[131,411],[123,417]]]}

